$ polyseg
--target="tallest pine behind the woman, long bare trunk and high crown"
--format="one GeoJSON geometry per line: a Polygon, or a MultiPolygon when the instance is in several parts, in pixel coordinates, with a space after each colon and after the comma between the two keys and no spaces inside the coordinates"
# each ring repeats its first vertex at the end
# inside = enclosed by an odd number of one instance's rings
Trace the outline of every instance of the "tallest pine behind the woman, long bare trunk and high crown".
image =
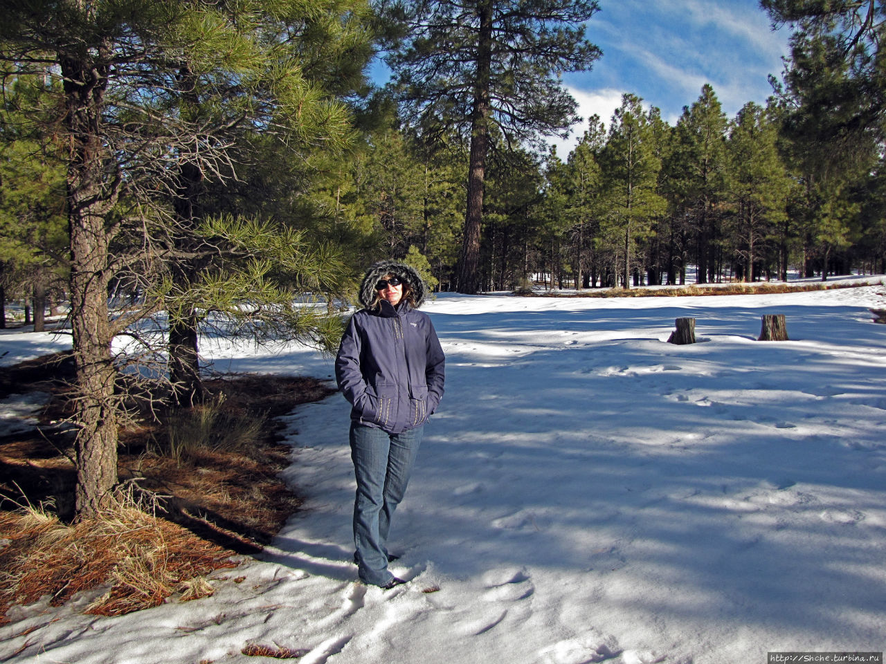
{"type": "Polygon", "coordinates": [[[559,74],[590,68],[600,51],[584,37],[593,0],[420,0],[393,4],[403,27],[387,58],[403,110],[425,137],[470,136],[458,290],[479,288],[486,158],[493,127],[508,149],[561,133],[576,103],[559,74]]]}

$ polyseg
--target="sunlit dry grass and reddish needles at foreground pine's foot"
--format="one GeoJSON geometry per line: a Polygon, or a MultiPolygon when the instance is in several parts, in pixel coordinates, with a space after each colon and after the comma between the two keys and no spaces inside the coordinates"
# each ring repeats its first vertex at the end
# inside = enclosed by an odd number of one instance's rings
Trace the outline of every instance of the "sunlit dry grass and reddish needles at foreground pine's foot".
{"type": "Polygon", "coordinates": [[[0,513],[0,533],[11,540],[0,550],[0,604],[6,606],[47,595],[51,606],[60,606],[77,592],[110,584],[86,613],[126,614],[158,606],[176,592],[182,599],[211,594],[195,579],[236,566],[233,552],[152,515],[131,498],[72,525],[29,506],[0,513]]]}

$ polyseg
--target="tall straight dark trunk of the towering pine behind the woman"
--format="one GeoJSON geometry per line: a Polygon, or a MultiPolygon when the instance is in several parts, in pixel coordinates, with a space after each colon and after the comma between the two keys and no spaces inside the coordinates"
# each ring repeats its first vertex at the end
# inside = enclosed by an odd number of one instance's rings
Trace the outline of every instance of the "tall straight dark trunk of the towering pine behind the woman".
{"type": "Polygon", "coordinates": [[[473,295],[479,290],[480,227],[483,222],[483,193],[486,181],[486,153],[489,151],[489,84],[492,69],[493,10],[488,0],[478,7],[479,41],[477,85],[470,121],[470,165],[468,205],[464,214],[462,257],[458,269],[458,292],[473,295]]]}

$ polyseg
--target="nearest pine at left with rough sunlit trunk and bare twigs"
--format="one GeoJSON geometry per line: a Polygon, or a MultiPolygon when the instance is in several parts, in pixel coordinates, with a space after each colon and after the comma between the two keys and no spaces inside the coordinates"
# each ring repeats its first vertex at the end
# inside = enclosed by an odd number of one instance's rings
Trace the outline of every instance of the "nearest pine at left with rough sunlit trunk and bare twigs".
{"type": "MultiPolygon", "coordinates": [[[[41,104],[58,110],[53,127],[67,147],[80,516],[100,511],[117,480],[113,337],[160,308],[186,315],[190,286],[162,277],[176,261],[192,258],[189,253],[214,250],[179,243],[190,232],[190,215],[170,214],[162,201],[189,199],[183,185],[198,178],[233,178],[237,127],[272,135],[302,155],[335,149],[351,132],[344,104],[306,77],[312,68],[327,71],[328,63],[312,58],[315,50],[299,58],[289,49],[303,31],[322,40],[311,32],[320,25],[348,33],[354,5],[237,4],[237,18],[253,32],[229,20],[232,7],[145,0],[16,3],[0,27],[0,61],[9,71],[61,81],[58,97],[48,93],[41,104]],[[253,17],[268,20],[257,26],[249,23],[253,17]],[[234,81],[237,95],[227,97],[234,81]],[[182,104],[191,84],[206,94],[199,106],[182,104]],[[219,104],[206,112],[212,100],[219,104]],[[115,312],[111,320],[112,283],[145,293],[143,305],[115,312]]],[[[361,35],[362,28],[347,36],[356,52],[365,52],[358,47],[361,35]]],[[[211,232],[238,243],[236,227],[211,232]]],[[[244,263],[234,280],[239,290],[225,292],[245,293],[249,278],[269,271],[258,259],[244,263]]],[[[208,275],[208,282],[218,283],[217,277],[208,275]]],[[[223,300],[219,288],[203,292],[223,300]]],[[[198,301],[211,308],[208,300],[198,301]]]]}

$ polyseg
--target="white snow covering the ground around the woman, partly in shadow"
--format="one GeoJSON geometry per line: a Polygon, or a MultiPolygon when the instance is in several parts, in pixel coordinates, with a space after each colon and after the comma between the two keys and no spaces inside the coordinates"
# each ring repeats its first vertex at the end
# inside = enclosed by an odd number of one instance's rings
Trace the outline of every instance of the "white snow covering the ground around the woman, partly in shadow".
{"type": "MultiPolygon", "coordinates": [[[[261,560],[217,574],[211,598],[136,614],[80,614],[88,597],[16,607],[0,659],[246,662],[250,644],[312,664],[881,652],[886,326],[867,309],[886,307],[886,287],[872,283],[442,295],[424,310],[447,393],[392,528],[408,584],[356,581],[348,408],[333,395],[284,418],[305,504],[261,560]],[[790,341],[756,341],[764,313],[786,315],[790,341]],[[687,316],[699,343],[665,343],[687,316]]],[[[55,344],[25,337],[0,344],[18,359],[55,344]]],[[[332,373],[303,348],[203,350],[219,370],[332,373]]]]}

